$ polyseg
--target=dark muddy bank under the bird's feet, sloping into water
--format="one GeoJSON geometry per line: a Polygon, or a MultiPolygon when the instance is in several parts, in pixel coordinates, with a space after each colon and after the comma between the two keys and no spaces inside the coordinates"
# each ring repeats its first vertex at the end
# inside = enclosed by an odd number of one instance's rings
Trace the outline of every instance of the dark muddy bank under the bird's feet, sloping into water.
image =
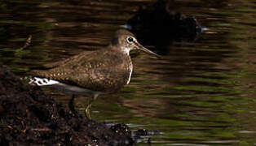
{"type": "Polygon", "coordinates": [[[0,65],[0,145],[131,145],[130,130],[74,114],[0,65]]]}

